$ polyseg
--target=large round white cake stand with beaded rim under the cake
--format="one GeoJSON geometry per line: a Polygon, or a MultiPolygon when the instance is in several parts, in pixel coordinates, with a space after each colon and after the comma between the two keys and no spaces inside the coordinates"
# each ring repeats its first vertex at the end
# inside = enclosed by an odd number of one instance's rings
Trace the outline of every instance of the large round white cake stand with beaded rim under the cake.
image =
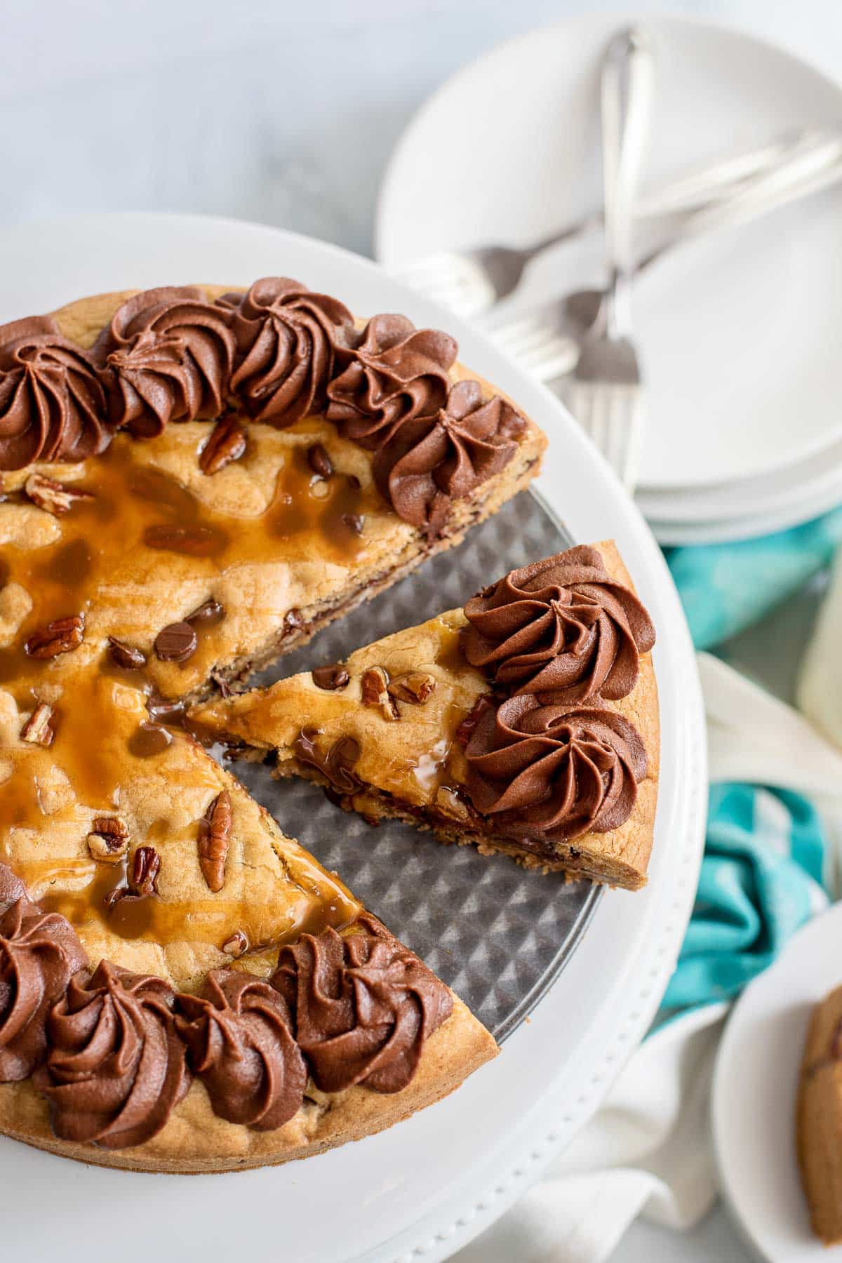
{"type": "Polygon", "coordinates": [[[538,1172],[540,1161],[529,1154],[549,1156],[566,1144],[605,1096],[658,1005],[692,907],[707,781],[687,624],[643,519],[547,390],[476,331],[371,263],[305,237],[163,215],[86,216],[0,234],[5,318],[97,290],[245,283],[273,273],[336,293],[361,313],[404,309],[418,322],[452,330],[465,360],[550,436],[539,480],[547,505],[579,539],[619,541],[659,632],[661,779],[650,883],[640,894],[611,892],[602,899],[559,983],[495,1062],[446,1101],[381,1135],[312,1162],[192,1180],[92,1170],[0,1139],[6,1223],[11,1215],[25,1223],[32,1258],[61,1249],[64,1263],[98,1263],[111,1258],[115,1240],[121,1263],[181,1260],[186,1242],[207,1263],[228,1263],[246,1245],[256,1257],[283,1253],[300,1263],[404,1253],[414,1263],[422,1255],[444,1258],[452,1239],[478,1231],[490,1207],[501,1211],[525,1175],[538,1172]],[[552,1116],[539,1104],[549,1092],[557,1103],[552,1116]],[[524,1163],[513,1170],[523,1147],[524,1163]],[[154,1212],[140,1214],[140,1204],[154,1212]]]}

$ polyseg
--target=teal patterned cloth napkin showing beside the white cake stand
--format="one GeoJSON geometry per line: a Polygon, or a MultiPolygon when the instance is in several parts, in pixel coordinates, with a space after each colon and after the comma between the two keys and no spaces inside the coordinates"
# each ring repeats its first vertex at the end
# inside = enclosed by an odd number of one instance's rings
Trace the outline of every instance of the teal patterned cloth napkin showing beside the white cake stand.
{"type": "MultiPolygon", "coordinates": [[[[828,566],[842,508],[789,530],[731,544],[665,549],[697,649],[750,626],[828,566]]],[[[659,1021],[732,999],[827,906],[827,840],[802,794],[715,784],[693,916],[659,1021]]]]}

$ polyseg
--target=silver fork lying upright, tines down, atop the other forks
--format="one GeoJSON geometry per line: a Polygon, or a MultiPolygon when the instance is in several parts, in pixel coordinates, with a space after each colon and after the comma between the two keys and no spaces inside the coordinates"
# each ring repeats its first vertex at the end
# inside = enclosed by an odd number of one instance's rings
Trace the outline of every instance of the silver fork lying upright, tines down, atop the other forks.
{"type": "Polygon", "coordinates": [[[639,28],[615,35],[601,82],[602,182],[608,285],[582,341],[567,403],[582,428],[632,489],[645,400],[631,341],[632,206],[654,78],[649,39],[639,28]]]}

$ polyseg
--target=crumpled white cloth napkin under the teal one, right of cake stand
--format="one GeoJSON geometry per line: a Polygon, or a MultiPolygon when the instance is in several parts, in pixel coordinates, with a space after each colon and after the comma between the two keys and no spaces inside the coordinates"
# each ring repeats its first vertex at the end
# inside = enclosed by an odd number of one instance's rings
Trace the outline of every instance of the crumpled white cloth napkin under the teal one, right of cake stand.
{"type": "MultiPolygon", "coordinates": [[[[842,615],[842,596],[839,604],[842,615]]],[[[834,652],[838,644],[837,635],[834,652]]],[[[698,667],[711,781],[809,794],[829,835],[842,839],[842,755],[720,659],[701,653],[698,667]]],[[[726,1012],[725,1004],[694,1010],[650,1036],[545,1177],[458,1263],[602,1263],[640,1214],[678,1229],[698,1223],[717,1195],[708,1105],[726,1012]]]]}

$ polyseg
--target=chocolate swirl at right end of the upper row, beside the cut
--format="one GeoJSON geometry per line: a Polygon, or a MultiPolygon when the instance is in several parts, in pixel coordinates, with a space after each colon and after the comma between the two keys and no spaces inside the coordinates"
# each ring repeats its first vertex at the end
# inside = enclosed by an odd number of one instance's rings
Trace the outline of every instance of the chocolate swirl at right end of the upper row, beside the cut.
{"type": "Polygon", "coordinates": [[[478,381],[458,381],[429,421],[401,426],[375,456],[374,475],[395,513],[437,536],[453,500],[470,495],[509,464],[523,417],[495,395],[482,402],[478,381]]]}

